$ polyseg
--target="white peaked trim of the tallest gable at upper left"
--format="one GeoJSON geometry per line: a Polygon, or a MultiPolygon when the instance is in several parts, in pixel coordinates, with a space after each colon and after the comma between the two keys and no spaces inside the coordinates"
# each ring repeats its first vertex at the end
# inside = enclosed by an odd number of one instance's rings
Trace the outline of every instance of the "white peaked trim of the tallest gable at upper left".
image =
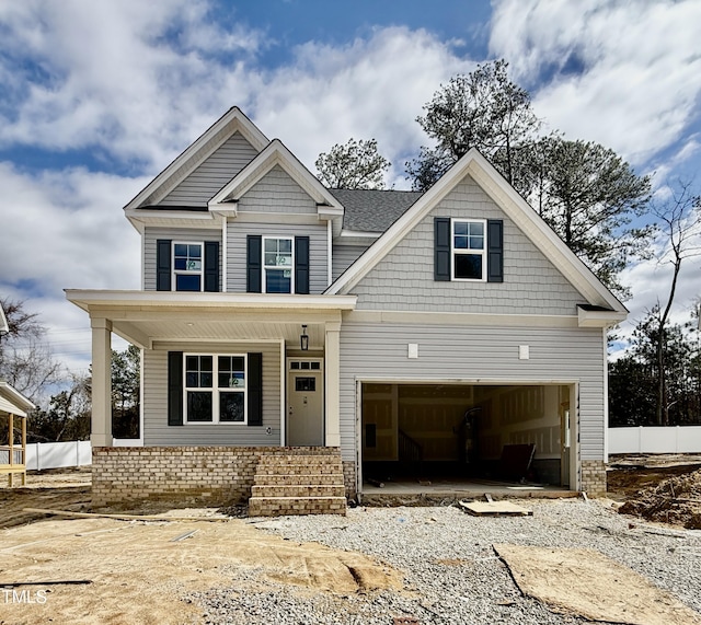
{"type": "Polygon", "coordinates": [[[253,121],[238,106],[232,106],[127,204],[125,210],[158,204],[234,132],[243,135],[257,152],[269,143],[253,121]]]}

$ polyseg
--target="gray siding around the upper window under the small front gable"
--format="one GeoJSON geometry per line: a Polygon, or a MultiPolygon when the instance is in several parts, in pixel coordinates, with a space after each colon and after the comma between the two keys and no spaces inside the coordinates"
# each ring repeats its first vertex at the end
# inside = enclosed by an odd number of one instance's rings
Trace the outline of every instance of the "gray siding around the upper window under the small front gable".
{"type": "Polygon", "coordinates": [[[329,233],[325,223],[274,224],[230,221],[227,231],[227,290],[245,292],[246,236],[309,236],[309,292],[319,294],[329,286],[329,233]]]}

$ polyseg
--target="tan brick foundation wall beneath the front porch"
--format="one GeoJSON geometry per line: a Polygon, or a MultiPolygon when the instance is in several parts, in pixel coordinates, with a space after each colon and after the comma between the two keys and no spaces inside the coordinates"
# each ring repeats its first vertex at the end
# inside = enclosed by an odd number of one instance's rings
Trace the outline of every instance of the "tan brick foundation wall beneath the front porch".
{"type": "Polygon", "coordinates": [[[93,448],[92,505],[153,499],[179,508],[245,504],[263,454],[341,455],[341,451],[327,447],[93,448]]]}

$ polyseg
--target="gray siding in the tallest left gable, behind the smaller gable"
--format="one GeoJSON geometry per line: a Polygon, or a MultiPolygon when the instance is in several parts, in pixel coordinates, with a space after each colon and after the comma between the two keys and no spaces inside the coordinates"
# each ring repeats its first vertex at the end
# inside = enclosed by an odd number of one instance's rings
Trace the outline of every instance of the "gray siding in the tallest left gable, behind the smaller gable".
{"type": "Polygon", "coordinates": [[[164,206],[207,206],[257,152],[241,134],[233,134],[159,204],[164,206]]]}

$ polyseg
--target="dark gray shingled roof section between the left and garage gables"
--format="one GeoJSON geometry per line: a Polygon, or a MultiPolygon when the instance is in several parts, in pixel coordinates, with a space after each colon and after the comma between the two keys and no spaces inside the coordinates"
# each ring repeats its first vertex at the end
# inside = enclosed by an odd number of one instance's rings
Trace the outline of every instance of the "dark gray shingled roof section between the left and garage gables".
{"type": "Polygon", "coordinates": [[[384,232],[422,195],[415,190],[329,189],[345,208],[344,230],[384,232]]]}

